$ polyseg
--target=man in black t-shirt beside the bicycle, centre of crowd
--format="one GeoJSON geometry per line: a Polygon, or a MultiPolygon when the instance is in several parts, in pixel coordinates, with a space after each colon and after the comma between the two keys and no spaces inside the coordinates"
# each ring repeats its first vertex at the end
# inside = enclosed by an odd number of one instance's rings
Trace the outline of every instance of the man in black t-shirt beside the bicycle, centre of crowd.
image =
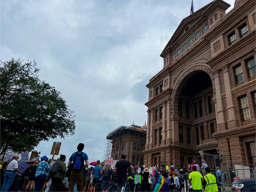
{"type": "Polygon", "coordinates": [[[117,176],[117,182],[119,186],[122,186],[126,182],[127,169],[130,167],[131,173],[134,172],[134,168],[129,161],[125,160],[126,155],[121,156],[121,160],[116,162],[114,174],[117,176]]]}

